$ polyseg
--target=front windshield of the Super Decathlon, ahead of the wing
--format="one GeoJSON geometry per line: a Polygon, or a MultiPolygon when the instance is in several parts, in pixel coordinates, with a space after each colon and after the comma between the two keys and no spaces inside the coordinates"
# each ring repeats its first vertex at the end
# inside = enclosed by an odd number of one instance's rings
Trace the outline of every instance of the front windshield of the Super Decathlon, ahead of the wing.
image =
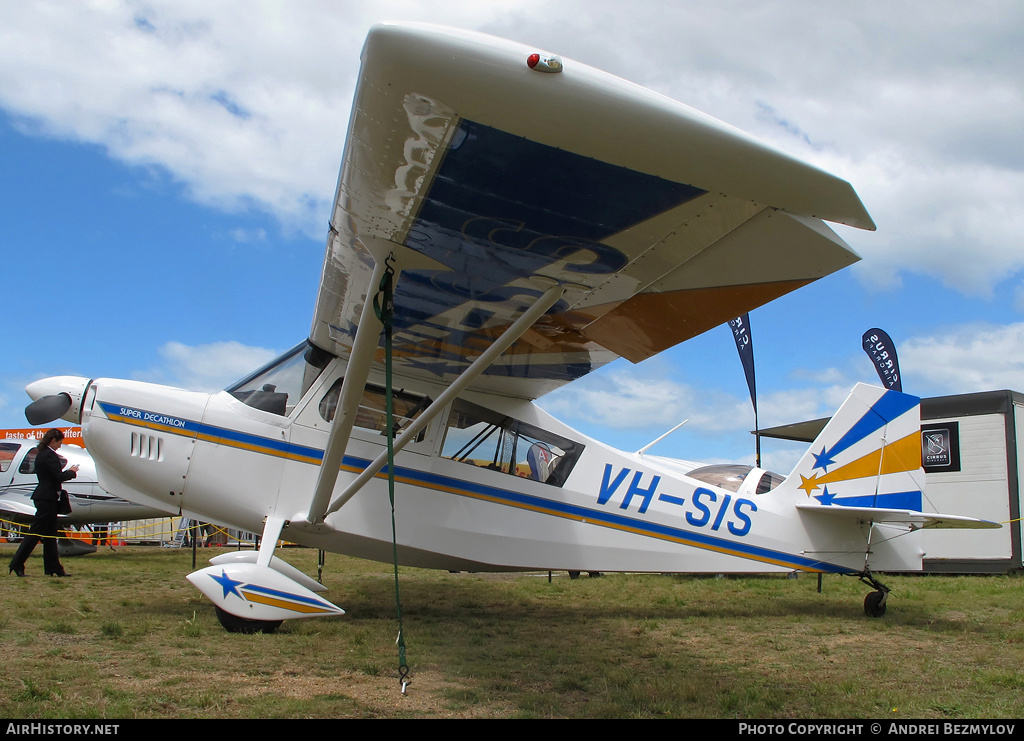
{"type": "Polygon", "coordinates": [[[331,354],[302,343],[227,387],[227,393],[254,409],[287,417],[331,361],[331,354]]]}

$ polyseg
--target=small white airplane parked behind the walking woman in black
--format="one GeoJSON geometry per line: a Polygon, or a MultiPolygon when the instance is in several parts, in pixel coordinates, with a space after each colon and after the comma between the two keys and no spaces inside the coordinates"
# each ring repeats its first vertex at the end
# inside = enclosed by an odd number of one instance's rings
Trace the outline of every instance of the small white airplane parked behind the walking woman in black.
{"type": "MultiPolygon", "coordinates": [[[[35,459],[38,440],[0,439],[0,519],[19,525],[31,525],[36,517],[32,493],[38,483],[35,459]]],[[[67,466],[78,464],[79,471],[63,488],[71,499],[71,514],[59,515],[61,528],[77,525],[96,525],[124,522],[150,517],[168,517],[175,514],[168,509],[137,505],[103,491],[96,477],[96,465],[87,450],[77,445],[63,445],[58,453],[67,466]]],[[[75,553],[66,550],[61,540],[61,555],[78,555],[83,543],[74,543],[75,553]]],[[[95,549],[88,549],[89,552],[95,549]]]]}

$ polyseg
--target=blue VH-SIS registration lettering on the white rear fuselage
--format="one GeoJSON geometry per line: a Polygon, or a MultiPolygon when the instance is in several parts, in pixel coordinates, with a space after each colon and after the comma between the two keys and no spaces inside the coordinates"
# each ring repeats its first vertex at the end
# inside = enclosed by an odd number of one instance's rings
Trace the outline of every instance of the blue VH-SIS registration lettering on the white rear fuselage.
{"type": "MultiPolygon", "coordinates": [[[[601,477],[601,488],[597,494],[597,504],[607,505],[630,473],[632,473],[632,469],[624,468],[612,477],[611,464],[605,464],[604,475],[601,477]]],[[[643,515],[647,512],[654,494],[657,493],[657,485],[662,482],[662,477],[652,474],[650,483],[644,487],[641,485],[643,475],[642,471],[633,474],[622,504],[618,505],[621,510],[628,509],[633,497],[639,496],[641,497],[639,513],[643,515]]],[[[657,499],[684,508],[686,522],[693,527],[707,527],[710,524],[712,531],[717,532],[724,524],[729,532],[738,537],[742,537],[751,531],[753,525],[751,515],[758,511],[758,506],[750,499],[741,497],[733,499],[732,494],[728,493],[724,494],[722,500],[719,502],[719,495],[715,491],[702,486],[693,490],[689,507],[687,507],[686,498],[683,496],[663,492],[657,494],[657,499]]]]}

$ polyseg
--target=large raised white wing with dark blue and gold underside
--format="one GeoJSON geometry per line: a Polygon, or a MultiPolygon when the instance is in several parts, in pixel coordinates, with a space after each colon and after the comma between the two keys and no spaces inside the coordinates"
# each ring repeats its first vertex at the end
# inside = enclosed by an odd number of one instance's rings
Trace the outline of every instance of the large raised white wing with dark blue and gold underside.
{"type": "Polygon", "coordinates": [[[349,352],[373,260],[393,253],[396,369],[445,382],[560,284],[472,387],[537,398],[857,261],[822,220],[874,228],[846,181],[662,95],[502,39],[381,25],[310,340],[349,352]]]}

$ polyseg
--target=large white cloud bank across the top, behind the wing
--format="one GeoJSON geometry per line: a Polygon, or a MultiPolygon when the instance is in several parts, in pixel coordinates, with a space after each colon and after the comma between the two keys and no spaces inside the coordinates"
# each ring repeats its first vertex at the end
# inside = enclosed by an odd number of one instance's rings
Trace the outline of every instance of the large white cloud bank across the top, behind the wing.
{"type": "Polygon", "coordinates": [[[4,8],[0,105],[318,237],[358,50],[385,17],[541,45],[850,179],[880,226],[850,237],[871,285],[913,271],[986,295],[1024,267],[1017,3],[36,0],[4,8]]]}

